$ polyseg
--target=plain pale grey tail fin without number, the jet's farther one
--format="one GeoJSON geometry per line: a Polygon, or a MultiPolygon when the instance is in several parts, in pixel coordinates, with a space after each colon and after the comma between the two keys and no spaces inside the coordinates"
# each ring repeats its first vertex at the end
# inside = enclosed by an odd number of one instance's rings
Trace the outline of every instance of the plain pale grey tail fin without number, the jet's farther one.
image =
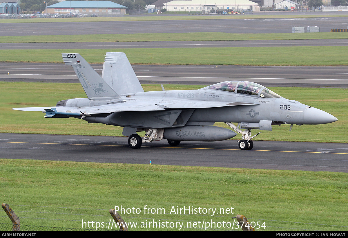
{"type": "Polygon", "coordinates": [[[117,94],[144,92],[125,53],[105,55],[102,78],[117,94]]]}

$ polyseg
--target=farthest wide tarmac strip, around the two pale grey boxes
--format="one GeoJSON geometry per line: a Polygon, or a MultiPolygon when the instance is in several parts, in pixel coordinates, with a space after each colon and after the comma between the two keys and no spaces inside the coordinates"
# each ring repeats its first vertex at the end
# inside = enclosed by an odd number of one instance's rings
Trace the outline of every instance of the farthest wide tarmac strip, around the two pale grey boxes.
{"type": "MultiPolygon", "coordinates": [[[[126,18],[125,18],[126,19],[126,18]]],[[[1,36],[128,33],[292,33],[293,26],[319,26],[320,32],[347,28],[348,17],[153,20],[122,22],[0,23],[1,36]]],[[[333,33],[337,34],[337,33],[333,33]]],[[[73,41],[73,39],[71,39],[73,41]]],[[[69,39],[67,39],[69,41],[69,39]]]]}

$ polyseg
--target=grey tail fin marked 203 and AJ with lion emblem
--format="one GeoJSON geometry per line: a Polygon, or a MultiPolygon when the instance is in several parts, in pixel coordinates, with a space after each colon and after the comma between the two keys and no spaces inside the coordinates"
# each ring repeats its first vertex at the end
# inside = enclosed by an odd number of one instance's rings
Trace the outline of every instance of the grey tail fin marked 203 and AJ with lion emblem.
{"type": "Polygon", "coordinates": [[[91,100],[111,100],[120,98],[87,61],[77,53],[62,53],[66,65],[71,65],[87,97],[91,100]]]}

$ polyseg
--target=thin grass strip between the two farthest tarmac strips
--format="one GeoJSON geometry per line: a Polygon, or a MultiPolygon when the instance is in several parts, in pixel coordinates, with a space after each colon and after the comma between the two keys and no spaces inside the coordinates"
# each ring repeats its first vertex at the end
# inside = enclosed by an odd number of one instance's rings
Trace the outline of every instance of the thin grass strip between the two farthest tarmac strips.
{"type": "Polygon", "coordinates": [[[140,42],[140,41],[248,41],[248,40],[309,40],[347,39],[348,32],[318,33],[144,33],[144,34],[96,34],[96,35],[29,35],[0,36],[0,43],[42,43],[42,42],[140,42]]]}

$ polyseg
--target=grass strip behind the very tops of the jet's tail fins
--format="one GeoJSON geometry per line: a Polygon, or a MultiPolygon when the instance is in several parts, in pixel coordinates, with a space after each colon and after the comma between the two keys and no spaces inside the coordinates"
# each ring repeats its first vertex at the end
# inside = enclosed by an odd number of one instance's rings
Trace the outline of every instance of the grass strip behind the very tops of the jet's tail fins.
{"type": "Polygon", "coordinates": [[[90,63],[102,63],[106,52],[125,52],[132,64],[334,66],[348,65],[347,51],[348,46],[2,50],[0,60],[62,62],[61,53],[80,53],[90,63]]]}

